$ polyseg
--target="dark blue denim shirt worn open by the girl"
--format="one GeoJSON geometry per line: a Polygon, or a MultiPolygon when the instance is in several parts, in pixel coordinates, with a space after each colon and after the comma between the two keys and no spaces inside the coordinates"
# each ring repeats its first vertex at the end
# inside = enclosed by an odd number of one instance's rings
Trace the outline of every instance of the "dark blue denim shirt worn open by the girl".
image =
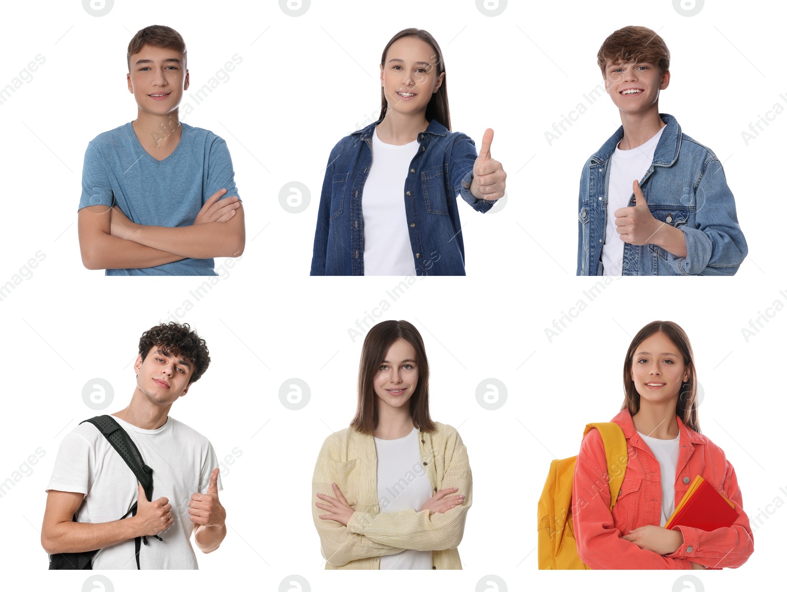
{"type": "MultiPolygon", "coordinates": [[[[361,203],[371,168],[371,135],[375,126],[342,138],[328,158],[317,228],[312,276],[364,275],[364,216],[361,203]]],[[[464,276],[464,243],[456,195],[478,212],[494,202],[470,192],[475,143],[432,120],[418,135],[403,190],[412,257],[418,276],[464,276]]]]}

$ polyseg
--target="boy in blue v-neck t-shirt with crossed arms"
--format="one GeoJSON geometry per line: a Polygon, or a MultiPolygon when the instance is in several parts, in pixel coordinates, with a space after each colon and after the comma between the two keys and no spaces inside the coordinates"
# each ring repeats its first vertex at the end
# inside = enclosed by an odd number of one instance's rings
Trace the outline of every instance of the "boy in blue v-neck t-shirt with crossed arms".
{"type": "Polygon", "coordinates": [[[153,25],[131,39],[127,60],[137,118],[87,146],[83,264],[108,276],[216,276],[212,257],[240,256],[246,231],[226,142],[178,118],[186,44],[153,25]]]}

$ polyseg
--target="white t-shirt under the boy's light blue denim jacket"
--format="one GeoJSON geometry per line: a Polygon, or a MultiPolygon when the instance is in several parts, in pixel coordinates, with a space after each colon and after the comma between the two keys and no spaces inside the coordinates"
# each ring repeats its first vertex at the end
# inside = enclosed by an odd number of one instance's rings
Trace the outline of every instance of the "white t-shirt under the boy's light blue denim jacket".
{"type": "MultiPolygon", "coordinates": [[[[666,126],[665,126],[666,127],[666,126]]],[[[626,208],[632,191],[634,180],[640,181],[653,163],[656,144],[659,143],[664,128],[656,132],[651,139],[631,150],[620,150],[615,146],[609,169],[609,198],[607,202],[607,235],[601,249],[601,264],[604,265],[604,276],[619,276],[623,272],[623,241],[620,240],[615,211],[626,208]]]]}

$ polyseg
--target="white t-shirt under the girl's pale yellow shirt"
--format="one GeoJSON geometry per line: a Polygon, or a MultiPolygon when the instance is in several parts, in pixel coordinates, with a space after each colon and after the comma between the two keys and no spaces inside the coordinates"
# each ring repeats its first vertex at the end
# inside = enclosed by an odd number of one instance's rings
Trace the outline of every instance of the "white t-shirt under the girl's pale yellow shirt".
{"type": "MultiPolygon", "coordinates": [[[[375,438],[377,498],[380,512],[414,509],[432,497],[432,486],[418,448],[418,428],[396,440],[375,438]]],[[[405,549],[380,557],[380,569],[431,569],[432,552],[405,549]]]]}

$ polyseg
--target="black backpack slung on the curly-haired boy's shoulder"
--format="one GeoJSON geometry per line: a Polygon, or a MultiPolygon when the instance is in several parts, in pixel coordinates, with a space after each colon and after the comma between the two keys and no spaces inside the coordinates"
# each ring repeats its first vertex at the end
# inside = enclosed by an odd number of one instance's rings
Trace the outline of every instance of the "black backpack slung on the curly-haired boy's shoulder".
{"type": "MultiPolygon", "coordinates": [[[[139,483],[142,484],[142,489],[145,490],[145,495],[148,500],[152,500],[153,496],[153,469],[147,466],[142,461],[142,455],[139,453],[139,449],[134,441],[129,437],[126,431],[120,427],[113,416],[109,415],[101,415],[92,417],[89,420],[85,420],[90,422],[95,427],[98,428],[98,431],[104,435],[104,437],[112,444],[113,448],[120,454],[120,457],[126,461],[128,468],[134,472],[139,483]]],[[[81,422],[82,424],[85,421],[81,422]]],[[[128,509],[123,516],[120,516],[119,520],[123,520],[131,513],[131,516],[137,515],[137,502],[134,502],[134,505],[128,509]]],[[[76,514],[74,514],[73,519],[76,522],[76,514]]],[[[158,540],[162,540],[162,538],[158,535],[153,535],[158,540]]],[[[146,545],[148,544],[146,537],[137,537],[134,539],[134,550],[137,559],[137,569],[139,569],[139,549],[142,547],[142,542],[146,545]]],[[[92,569],[93,568],[93,556],[98,553],[99,549],[95,549],[94,551],[83,551],[81,553],[56,553],[54,555],[50,555],[50,569],[92,569]]]]}

